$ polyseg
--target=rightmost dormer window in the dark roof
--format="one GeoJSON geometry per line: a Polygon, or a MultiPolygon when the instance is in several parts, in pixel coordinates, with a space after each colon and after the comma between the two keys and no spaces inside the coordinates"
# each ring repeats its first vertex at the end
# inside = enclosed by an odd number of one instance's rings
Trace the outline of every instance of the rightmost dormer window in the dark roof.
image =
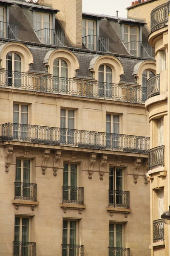
{"type": "Polygon", "coordinates": [[[124,44],[132,55],[137,55],[138,28],[124,26],[124,44]],[[128,43],[128,44],[127,44],[128,43]]]}

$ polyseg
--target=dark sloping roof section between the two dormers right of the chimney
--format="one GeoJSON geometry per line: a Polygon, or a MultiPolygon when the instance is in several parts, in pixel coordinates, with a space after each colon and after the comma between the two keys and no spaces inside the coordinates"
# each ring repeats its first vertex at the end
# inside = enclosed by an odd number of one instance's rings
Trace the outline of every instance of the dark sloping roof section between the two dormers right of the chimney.
{"type": "Polygon", "coordinates": [[[129,55],[109,20],[100,20],[99,26],[100,36],[109,38],[109,52],[129,55]]]}

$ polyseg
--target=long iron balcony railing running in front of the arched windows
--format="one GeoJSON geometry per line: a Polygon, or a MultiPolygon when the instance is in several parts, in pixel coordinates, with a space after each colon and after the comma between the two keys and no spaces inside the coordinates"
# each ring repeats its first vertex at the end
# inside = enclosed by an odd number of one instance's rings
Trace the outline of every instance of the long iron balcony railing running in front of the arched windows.
{"type": "Polygon", "coordinates": [[[8,70],[0,70],[0,86],[11,87],[17,90],[110,99],[120,102],[144,103],[147,99],[147,88],[141,86],[103,83],[8,70]]]}

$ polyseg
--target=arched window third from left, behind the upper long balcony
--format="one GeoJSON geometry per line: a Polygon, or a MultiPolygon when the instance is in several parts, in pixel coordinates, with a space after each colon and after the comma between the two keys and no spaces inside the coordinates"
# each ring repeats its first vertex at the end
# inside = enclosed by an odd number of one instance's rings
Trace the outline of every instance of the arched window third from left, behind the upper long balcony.
{"type": "Polygon", "coordinates": [[[99,66],[99,97],[112,96],[112,69],[106,64],[99,66]]]}

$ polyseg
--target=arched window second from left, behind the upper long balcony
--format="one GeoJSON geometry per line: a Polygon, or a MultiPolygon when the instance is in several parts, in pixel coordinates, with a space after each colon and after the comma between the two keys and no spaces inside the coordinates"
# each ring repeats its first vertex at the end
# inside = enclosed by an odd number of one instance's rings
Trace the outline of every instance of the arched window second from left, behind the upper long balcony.
{"type": "Polygon", "coordinates": [[[68,64],[66,61],[56,58],[53,63],[54,90],[63,93],[68,91],[68,64]]]}

